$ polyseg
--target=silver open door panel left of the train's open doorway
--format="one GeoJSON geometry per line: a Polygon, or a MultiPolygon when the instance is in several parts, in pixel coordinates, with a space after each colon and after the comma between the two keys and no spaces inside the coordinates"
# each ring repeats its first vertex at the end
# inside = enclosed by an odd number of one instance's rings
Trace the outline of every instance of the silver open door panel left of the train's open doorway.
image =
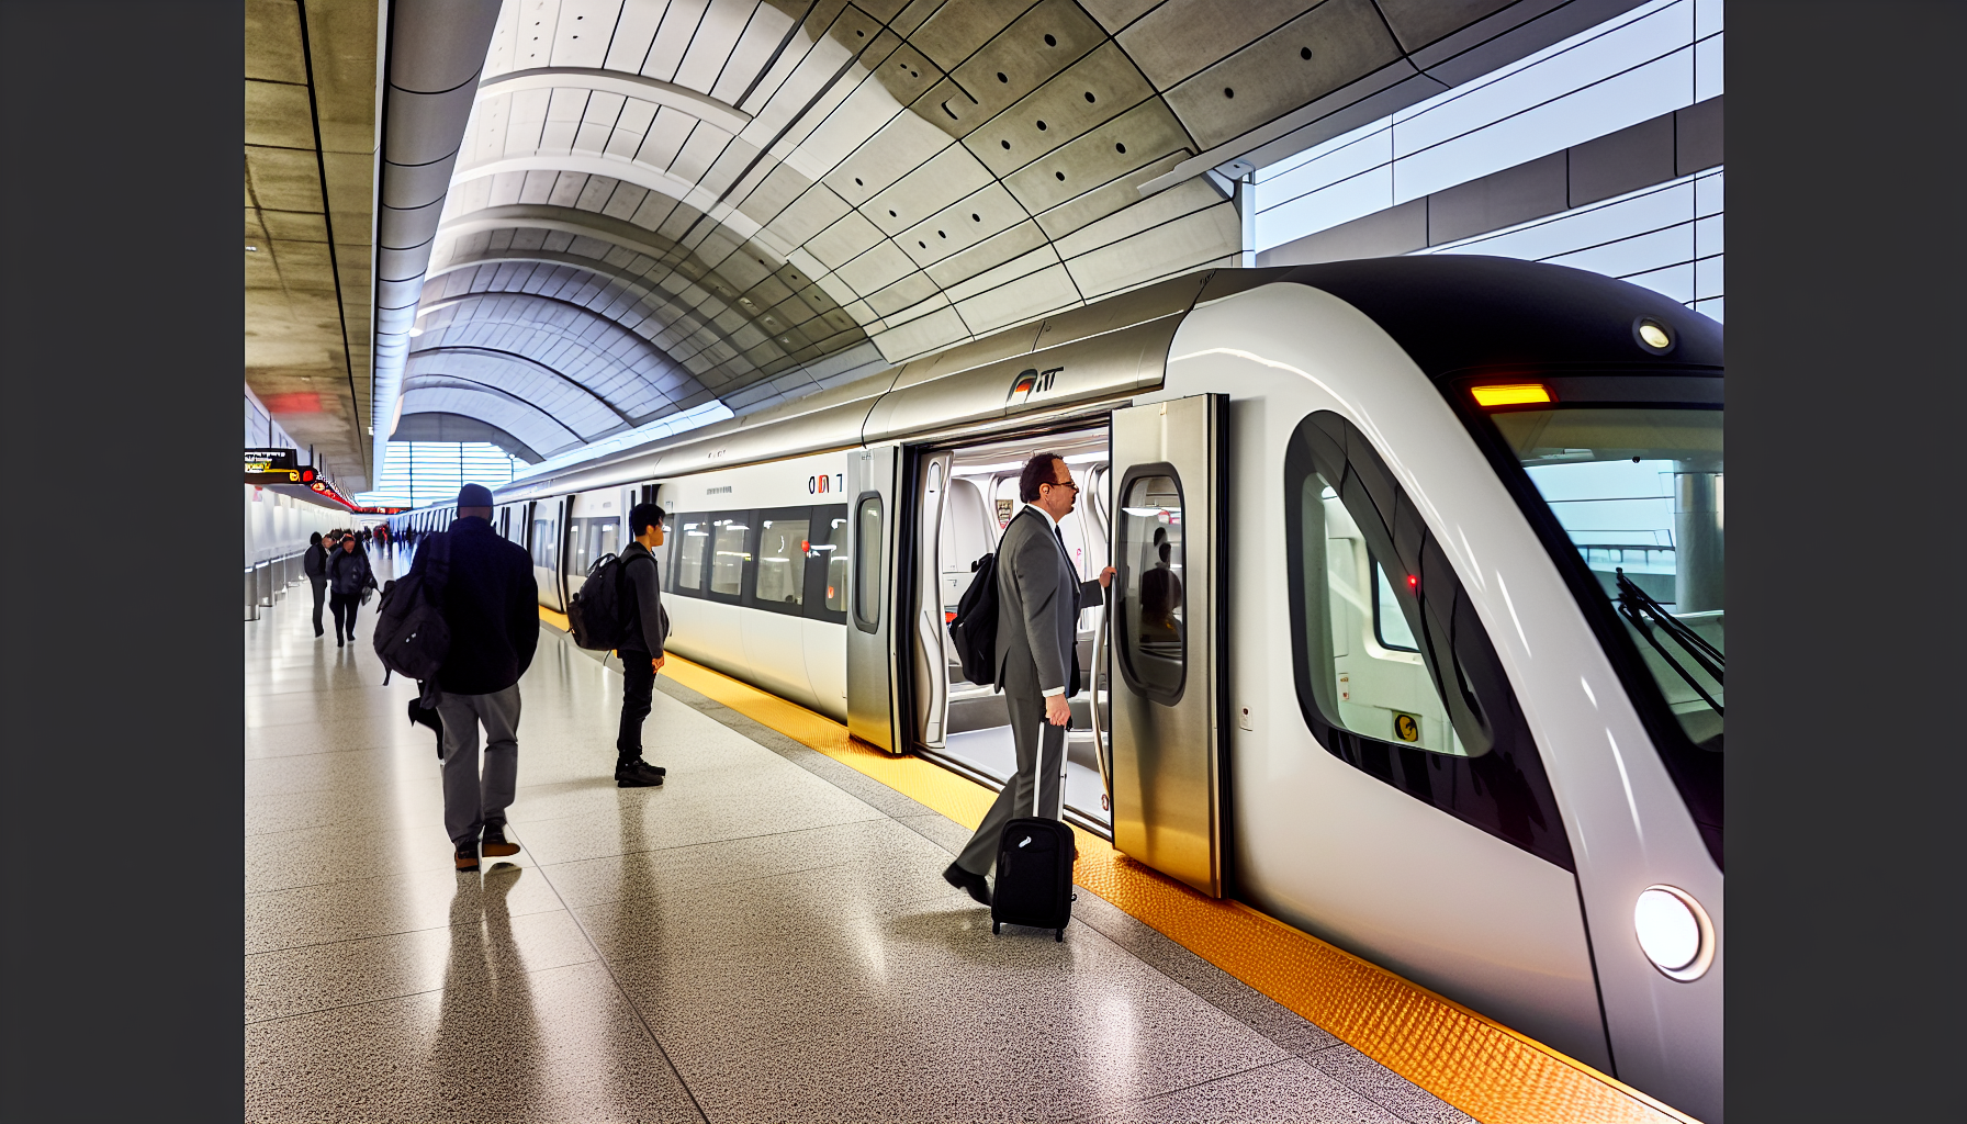
{"type": "Polygon", "coordinates": [[[903,740],[895,713],[895,467],[897,449],[848,453],[848,524],[852,569],[848,577],[848,732],[895,754],[903,740]]]}

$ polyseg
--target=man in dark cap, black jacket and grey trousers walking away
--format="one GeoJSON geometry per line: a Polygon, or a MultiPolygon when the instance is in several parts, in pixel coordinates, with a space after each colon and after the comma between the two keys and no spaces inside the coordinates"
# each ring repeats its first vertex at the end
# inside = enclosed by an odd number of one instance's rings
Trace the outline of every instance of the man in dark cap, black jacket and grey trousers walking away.
{"type": "Polygon", "coordinates": [[[464,484],[458,518],[447,533],[425,541],[409,573],[443,606],[450,630],[437,669],[445,831],[456,848],[458,872],[470,872],[478,870],[480,852],[492,858],[519,852],[519,844],[506,839],[506,809],[519,783],[519,675],[539,648],[539,583],[525,549],[492,530],[492,490],[484,484],[464,484]],[[480,724],[486,732],[482,772],[480,724]]]}

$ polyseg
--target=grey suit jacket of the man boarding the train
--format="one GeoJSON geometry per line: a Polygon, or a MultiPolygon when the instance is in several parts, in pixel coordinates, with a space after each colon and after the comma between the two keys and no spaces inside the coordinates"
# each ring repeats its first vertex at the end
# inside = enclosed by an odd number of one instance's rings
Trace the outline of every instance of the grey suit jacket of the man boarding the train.
{"type": "Polygon", "coordinates": [[[997,543],[997,683],[1021,657],[1039,669],[1039,689],[1070,687],[1080,610],[1100,600],[1098,581],[1080,581],[1052,533],[1052,522],[1029,504],[997,543]]]}

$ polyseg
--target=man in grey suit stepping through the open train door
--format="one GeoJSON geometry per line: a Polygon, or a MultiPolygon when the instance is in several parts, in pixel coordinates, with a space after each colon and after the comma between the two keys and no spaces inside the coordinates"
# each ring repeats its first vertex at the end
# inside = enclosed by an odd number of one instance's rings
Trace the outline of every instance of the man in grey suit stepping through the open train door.
{"type": "Polygon", "coordinates": [[[1011,711],[1017,776],[984,813],[976,837],[942,878],[989,905],[984,874],[997,860],[1003,825],[1027,815],[1039,785],[1039,726],[1072,720],[1068,699],[1080,689],[1080,610],[1100,600],[1113,567],[1080,581],[1058,522],[1072,514],[1080,486],[1056,453],[1039,453],[1017,480],[1025,508],[997,543],[997,687],[1011,711]]]}

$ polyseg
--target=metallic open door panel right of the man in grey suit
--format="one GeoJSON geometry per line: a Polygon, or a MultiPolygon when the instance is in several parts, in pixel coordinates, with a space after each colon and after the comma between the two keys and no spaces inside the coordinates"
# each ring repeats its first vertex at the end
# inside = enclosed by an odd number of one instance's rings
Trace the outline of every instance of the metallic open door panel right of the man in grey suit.
{"type": "Polygon", "coordinates": [[[1222,898],[1229,400],[1113,411],[1113,846],[1222,898]]]}

